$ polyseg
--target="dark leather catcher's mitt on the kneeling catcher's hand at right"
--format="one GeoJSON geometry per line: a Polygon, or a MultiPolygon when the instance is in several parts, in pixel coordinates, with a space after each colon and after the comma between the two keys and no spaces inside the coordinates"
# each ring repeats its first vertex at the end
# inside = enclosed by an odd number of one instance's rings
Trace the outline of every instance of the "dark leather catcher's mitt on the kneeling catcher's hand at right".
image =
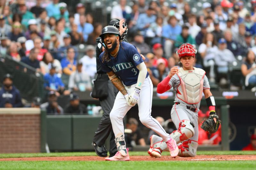
{"type": "Polygon", "coordinates": [[[204,122],[201,125],[201,128],[209,133],[215,133],[219,129],[221,121],[219,120],[219,116],[212,114],[209,116],[208,119],[204,119],[204,122]],[[216,123],[214,122],[213,118],[216,118],[216,123]]]}

